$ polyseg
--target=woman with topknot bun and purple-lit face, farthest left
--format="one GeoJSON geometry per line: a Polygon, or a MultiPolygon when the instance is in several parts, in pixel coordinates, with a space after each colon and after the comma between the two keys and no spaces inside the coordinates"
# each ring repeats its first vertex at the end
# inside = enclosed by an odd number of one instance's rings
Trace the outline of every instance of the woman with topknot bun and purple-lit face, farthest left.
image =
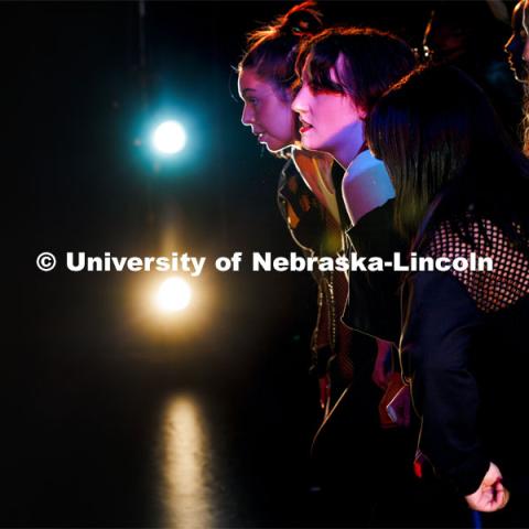
{"type": "MultiPolygon", "coordinates": [[[[249,35],[248,51],[239,63],[239,94],[245,101],[242,123],[251,127],[258,141],[267,149],[283,158],[287,162],[281,172],[278,188],[278,202],[294,241],[305,256],[336,257],[343,246],[343,223],[347,217],[339,194],[341,175],[333,174],[333,160],[324,154],[311,153],[299,145],[299,121],[291,109],[295,76],[295,58],[300,44],[311,32],[321,29],[320,14],[314,3],[305,2],[294,7],[289,13],[278,18],[271,25],[249,35]]],[[[341,321],[347,298],[347,279],[343,272],[317,272],[314,274],[319,285],[319,315],[313,333],[313,367],[321,390],[321,403],[325,421],[335,404],[347,414],[349,424],[356,424],[356,436],[363,443],[371,443],[377,427],[376,407],[374,413],[358,410],[358,404],[347,401],[347,395],[341,398],[349,387],[356,366],[350,355],[375,357],[376,344],[364,335],[353,338],[352,331],[341,321]],[[356,407],[356,408],[355,408],[356,407]],[[369,423],[369,430],[365,428],[369,423]]],[[[379,396],[379,389],[371,384],[369,391],[379,396]]],[[[323,497],[331,507],[330,519],[343,523],[368,522],[370,503],[364,483],[350,483],[350,473],[344,469],[355,468],[360,475],[357,462],[365,453],[355,439],[341,428],[324,430],[332,442],[325,451],[339,453],[339,462],[328,465],[322,452],[314,453],[314,466],[323,497]],[[347,438],[348,443],[339,442],[347,438]],[[322,473],[320,473],[320,469],[322,473]],[[343,479],[348,487],[345,488],[343,479]],[[347,494],[342,501],[335,494],[347,494]],[[328,494],[327,494],[328,493],[328,494]],[[349,499],[356,496],[355,508],[349,499]],[[358,498],[363,499],[358,499],[358,498]]],[[[325,521],[328,521],[326,519],[325,521]]],[[[324,521],[324,522],[325,522],[324,521]]]]}

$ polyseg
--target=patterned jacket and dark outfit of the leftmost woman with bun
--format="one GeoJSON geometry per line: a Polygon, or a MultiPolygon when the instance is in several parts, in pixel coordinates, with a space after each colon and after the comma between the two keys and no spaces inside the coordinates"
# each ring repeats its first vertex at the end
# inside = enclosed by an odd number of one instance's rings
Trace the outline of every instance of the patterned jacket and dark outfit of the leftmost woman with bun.
{"type": "MultiPolygon", "coordinates": [[[[333,179],[335,190],[341,188],[339,173],[333,179]]],[[[339,196],[335,198],[339,224],[332,208],[324,207],[305,185],[293,161],[287,162],[278,202],[305,256],[336,257],[343,251],[347,213],[339,196]]],[[[366,482],[378,475],[373,471],[378,465],[377,404],[381,390],[371,381],[377,346],[371,336],[353,332],[342,322],[348,295],[346,276],[314,272],[314,278],[319,285],[319,317],[313,334],[313,373],[320,379],[328,379],[331,392],[313,441],[312,469],[322,486],[320,498],[325,507],[321,511],[333,512],[333,520],[344,526],[365,527],[370,521],[374,489],[374,484],[366,482]]]]}

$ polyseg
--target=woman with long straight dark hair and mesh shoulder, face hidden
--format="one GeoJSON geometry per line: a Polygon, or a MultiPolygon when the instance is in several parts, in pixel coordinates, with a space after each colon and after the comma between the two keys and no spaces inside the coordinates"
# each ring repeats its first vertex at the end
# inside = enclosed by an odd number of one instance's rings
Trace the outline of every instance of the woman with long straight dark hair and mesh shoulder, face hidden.
{"type": "Polygon", "coordinates": [[[400,349],[422,422],[418,458],[473,509],[507,504],[493,523],[527,527],[529,161],[482,89],[453,67],[421,68],[397,84],[366,131],[391,175],[396,226],[413,237],[411,249],[493,260],[492,271],[454,266],[407,277],[400,349]]]}

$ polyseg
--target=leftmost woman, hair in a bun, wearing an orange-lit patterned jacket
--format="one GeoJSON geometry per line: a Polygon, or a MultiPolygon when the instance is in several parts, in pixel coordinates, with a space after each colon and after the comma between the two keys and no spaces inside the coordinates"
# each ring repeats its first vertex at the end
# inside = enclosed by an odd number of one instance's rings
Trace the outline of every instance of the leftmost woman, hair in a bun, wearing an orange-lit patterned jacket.
{"type": "MultiPolygon", "coordinates": [[[[287,226],[305,256],[334,256],[342,249],[345,215],[333,181],[330,156],[303,151],[299,122],[291,110],[295,57],[300,42],[322,28],[314,2],[304,2],[252,32],[239,63],[239,94],[245,101],[242,123],[267,149],[287,158],[278,186],[278,204],[287,226]],[[307,186],[310,183],[310,186],[307,186]]],[[[350,331],[341,322],[347,295],[341,272],[315,272],[319,315],[313,333],[313,371],[321,404],[328,413],[353,374],[350,331]]],[[[367,341],[360,337],[363,343],[367,341]]],[[[371,345],[369,343],[369,345],[371,345]]]]}

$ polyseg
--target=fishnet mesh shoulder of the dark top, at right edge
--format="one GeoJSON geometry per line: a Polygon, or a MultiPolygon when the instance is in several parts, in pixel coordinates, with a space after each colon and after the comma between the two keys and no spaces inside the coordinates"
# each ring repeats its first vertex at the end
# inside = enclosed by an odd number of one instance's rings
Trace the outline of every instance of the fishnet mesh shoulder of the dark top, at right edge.
{"type": "MultiPolygon", "coordinates": [[[[441,223],[421,253],[433,258],[469,259],[471,253],[475,252],[477,258],[492,258],[492,271],[474,271],[471,268],[450,271],[465,287],[482,312],[500,311],[528,295],[529,252],[523,253],[515,248],[508,236],[488,219],[467,219],[466,227],[469,237],[464,237],[451,223],[441,223]]],[[[529,247],[529,241],[525,244],[529,247]]]]}

